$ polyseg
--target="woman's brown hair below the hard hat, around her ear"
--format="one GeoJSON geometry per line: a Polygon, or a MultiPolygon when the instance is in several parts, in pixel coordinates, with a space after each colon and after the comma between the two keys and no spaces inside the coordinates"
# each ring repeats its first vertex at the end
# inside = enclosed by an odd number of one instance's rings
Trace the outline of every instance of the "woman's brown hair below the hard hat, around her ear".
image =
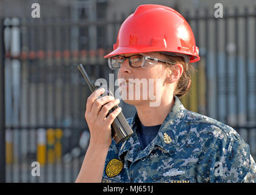
{"type": "Polygon", "coordinates": [[[188,90],[191,87],[191,73],[194,73],[196,69],[190,63],[185,62],[183,57],[171,56],[168,54],[163,55],[165,55],[166,61],[180,63],[183,66],[182,76],[180,77],[177,87],[174,90],[174,95],[177,97],[182,97],[188,93],[188,90]]]}

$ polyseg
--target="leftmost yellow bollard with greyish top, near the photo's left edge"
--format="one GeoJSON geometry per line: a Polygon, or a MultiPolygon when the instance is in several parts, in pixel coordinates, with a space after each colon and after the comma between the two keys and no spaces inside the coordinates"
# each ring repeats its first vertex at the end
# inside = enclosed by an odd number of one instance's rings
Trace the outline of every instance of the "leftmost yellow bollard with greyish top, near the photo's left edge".
{"type": "Polygon", "coordinates": [[[6,158],[6,164],[10,165],[13,163],[13,134],[12,130],[7,129],[5,132],[5,158],[6,158]]]}

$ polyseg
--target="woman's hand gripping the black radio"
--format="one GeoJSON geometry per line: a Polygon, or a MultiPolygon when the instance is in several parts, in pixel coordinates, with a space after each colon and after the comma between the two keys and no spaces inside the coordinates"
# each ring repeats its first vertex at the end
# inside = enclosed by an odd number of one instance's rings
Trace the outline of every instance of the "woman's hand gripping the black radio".
{"type": "Polygon", "coordinates": [[[113,96],[104,96],[97,99],[105,89],[100,88],[94,91],[87,99],[85,110],[85,119],[90,129],[90,145],[98,149],[108,149],[112,142],[111,124],[121,112],[121,107],[118,107],[110,113],[108,111],[115,105],[119,104],[119,99],[113,96]]]}

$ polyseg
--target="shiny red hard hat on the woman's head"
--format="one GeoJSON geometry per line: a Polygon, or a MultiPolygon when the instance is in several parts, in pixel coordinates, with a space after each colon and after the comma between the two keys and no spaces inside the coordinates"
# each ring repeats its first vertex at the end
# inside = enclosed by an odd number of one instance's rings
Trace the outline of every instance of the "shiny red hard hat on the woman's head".
{"type": "Polygon", "coordinates": [[[194,34],[185,18],[163,5],[140,5],[121,25],[113,55],[165,52],[186,56],[191,62],[200,60],[194,34]]]}

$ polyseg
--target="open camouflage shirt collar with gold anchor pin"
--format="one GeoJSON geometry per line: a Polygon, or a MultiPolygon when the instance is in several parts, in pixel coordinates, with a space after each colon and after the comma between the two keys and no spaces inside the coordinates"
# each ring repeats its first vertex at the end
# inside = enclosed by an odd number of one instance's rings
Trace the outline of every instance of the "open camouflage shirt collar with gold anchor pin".
{"type": "MultiPolygon", "coordinates": [[[[151,152],[152,149],[154,149],[155,146],[162,147],[166,152],[168,152],[170,155],[172,155],[175,151],[175,146],[179,137],[179,129],[182,124],[183,118],[186,113],[185,107],[183,107],[182,103],[180,102],[179,98],[177,96],[174,96],[175,102],[171,109],[171,111],[166,116],[165,120],[163,121],[162,126],[160,127],[157,136],[152,141],[151,145],[149,147],[146,147],[142,153],[151,152]],[[171,138],[171,143],[168,143],[165,141],[165,138],[171,138]]],[[[137,120],[138,120],[138,114],[137,112],[133,116],[132,120],[129,122],[130,127],[134,130],[137,126],[137,120]]],[[[126,140],[123,144],[121,144],[121,147],[119,149],[119,158],[121,158],[121,155],[124,153],[130,151],[130,148],[137,148],[136,151],[138,151],[138,145],[140,145],[140,142],[138,141],[137,132],[135,131],[128,140],[126,140]]],[[[132,151],[135,153],[135,151],[132,151]]],[[[130,158],[135,155],[129,155],[130,158]]],[[[135,157],[130,159],[131,161],[135,160],[135,157]]]]}

